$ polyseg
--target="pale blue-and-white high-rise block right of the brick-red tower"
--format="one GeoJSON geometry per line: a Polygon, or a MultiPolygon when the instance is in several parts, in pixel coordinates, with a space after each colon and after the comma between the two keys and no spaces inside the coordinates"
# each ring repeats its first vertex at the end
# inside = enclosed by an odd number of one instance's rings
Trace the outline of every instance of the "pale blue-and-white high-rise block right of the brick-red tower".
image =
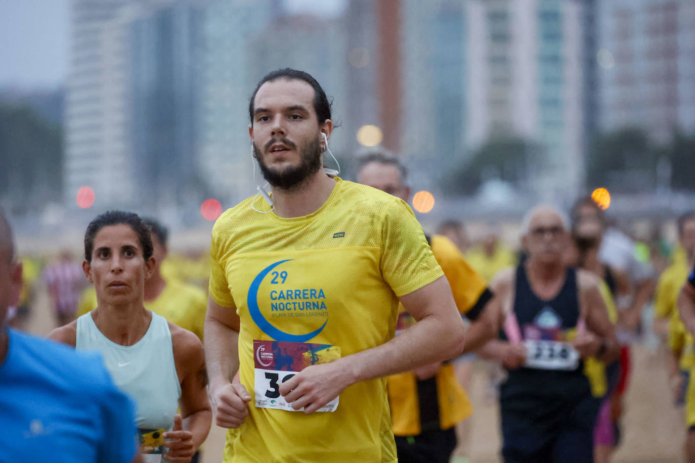
{"type": "Polygon", "coordinates": [[[517,137],[542,151],[531,189],[573,194],[583,169],[584,2],[403,3],[412,162],[441,172],[490,140],[517,137]]]}

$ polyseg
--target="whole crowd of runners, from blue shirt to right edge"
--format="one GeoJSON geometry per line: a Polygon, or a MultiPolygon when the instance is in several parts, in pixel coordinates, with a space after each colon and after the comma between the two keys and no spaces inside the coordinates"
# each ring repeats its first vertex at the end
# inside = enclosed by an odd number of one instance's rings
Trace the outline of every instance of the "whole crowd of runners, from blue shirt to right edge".
{"type": "Polygon", "coordinates": [[[504,373],[503,461],[609,462],[653,301],[695,462],[695,213],[666,269],[588,196],[526,212],[518,253],[493,227],[471,244],[465,217],[426,234],[398,155],[340,177],[309,74],[271,72],[248,109],[265,185],[216,221],[209,260],[112,210],[81,264],[41,269],[0,214],[0,461],[197,462],[215,423],[216,461],[467,462],[477,359],[504,373]],[[52,341],[23,332],[38,280],[52,341]]]}

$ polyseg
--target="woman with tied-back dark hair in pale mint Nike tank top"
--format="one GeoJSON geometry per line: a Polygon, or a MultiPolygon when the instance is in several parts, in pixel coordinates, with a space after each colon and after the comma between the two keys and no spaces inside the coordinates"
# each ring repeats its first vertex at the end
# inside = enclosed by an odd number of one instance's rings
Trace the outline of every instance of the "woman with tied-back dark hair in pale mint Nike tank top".
{"type": "Polygon", "coordinates": [[[95,285],[97,308],[49,337],[101,352],[115,384],[137,403],[145,462],[188,463],[212,421],[203,346],[192,332],[142,305],[154,264],[150,230],[138,215],[99,215],[85,233],[82,264],[95,285]]]}

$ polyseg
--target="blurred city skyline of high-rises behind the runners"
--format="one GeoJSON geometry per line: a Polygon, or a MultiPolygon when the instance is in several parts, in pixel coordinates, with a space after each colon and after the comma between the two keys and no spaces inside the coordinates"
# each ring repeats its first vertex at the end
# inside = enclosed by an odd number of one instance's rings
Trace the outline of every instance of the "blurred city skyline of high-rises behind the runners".
{"type": "Polygon", "coordinates": [[[0,68],[13,124],[0,134],[0,203],[15,214],[80,214],[81,187],[95,207],[156,210],[181,224],[195,223],[183,216],[206,199],[231,207],[255,190],[248,96],[279,67],[308,71],[334,99],[331,146],[348,180],[354,155],[376,145],[402,155],[416,189],[473,210],[567,205],[598,186],[658,208],[693,189],[692,1],[0,8],[0,38],[14,45],[0,68]],[[25,152],[30,167],[16,159],[25,152]]]}

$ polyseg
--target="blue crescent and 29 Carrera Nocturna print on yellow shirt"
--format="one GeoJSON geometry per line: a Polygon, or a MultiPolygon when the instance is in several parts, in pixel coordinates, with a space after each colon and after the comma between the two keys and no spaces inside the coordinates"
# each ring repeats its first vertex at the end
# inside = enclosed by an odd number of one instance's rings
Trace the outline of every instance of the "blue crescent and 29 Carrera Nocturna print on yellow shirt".
{"type": "MultiPolygon", "coordinates": [[[[275,269],[275,267],[278,267],[280,264],[284,264],[285,262],[290,262],[291,260],[292,259],[280,260],[278,262],[270,264],[268,267],[265,267],[265,269],[261,270],[261,272],[258,275],[256,275],[256,278],[254,278],[254,280],[251,283],[251,286],[249,287],[246,303],[249,308],[249,314],[251,315],[251,318],[254,321],[254,323],[256,323],[256,326],[258,326],[260,330],[263,331],[266,335],[272,337],[272,339],[276,339],[277,341],[283,342],[306,342],[309,341],[309,339],[316,337],[316,335],[318,335],[318,333],[320,333],[323,330],[323,328],[325,328],[326,323],[328,323],[328,320],[326,320],[322,324],[322,326],[320,326],[320,328],[318,328],[317,330],[308,332],[303,335],[295,335],[292,333],[284,332],[283,330],[280,330],[278,328],[275,328],[275,326],[272,326],[272,324],[267,319],[265,319],[265,317],[263,317],[258,303],[259,288],[261,287],[261,283],[263,283],[264,278],[268,276],[268,273],[275,269]]],[[[273,271],[272,273],[270,273],[270,283],[284,284],[287,280],[287,277],[288,274],[286,271],[273,271]]],[[[299,311],[300,313],[307,311],[307,313],[311,312],[318,314],[327,314],[325,294],[322,289],[272,289],[270,291],[269,296],[270,301],[272,301],[270,304],[270,309],[279,313],[291,314],[297,313],[297,311],[299,311]]]]}

